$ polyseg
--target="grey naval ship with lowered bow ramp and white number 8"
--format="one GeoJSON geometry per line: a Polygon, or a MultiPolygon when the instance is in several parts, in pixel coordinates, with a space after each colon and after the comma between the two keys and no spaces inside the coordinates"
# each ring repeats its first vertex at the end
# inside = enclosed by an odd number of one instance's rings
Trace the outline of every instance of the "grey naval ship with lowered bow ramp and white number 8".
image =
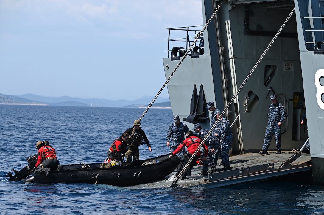
{"type": "Polygon", "coordinates": [[[167,29],[168,93],[173,114],[190,129],[210,129],[207,102],[225,110],[233,169],[194,183],[218,187],[308,171],[324,185],[324,0],[202,0],[202,9],[202,26],[167,29]],[[273,137],[269,154],[259,155],[272,94],[286,110],[282,154],[274,153],[273,137]],[[308,140],[310,155],[300,152],[308,140]]]}

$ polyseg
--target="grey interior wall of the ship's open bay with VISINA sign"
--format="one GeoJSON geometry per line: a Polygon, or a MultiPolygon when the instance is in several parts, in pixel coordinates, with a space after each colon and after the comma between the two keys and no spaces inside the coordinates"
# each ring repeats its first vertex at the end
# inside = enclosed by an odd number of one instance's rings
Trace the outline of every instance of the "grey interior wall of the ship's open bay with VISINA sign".
{"type": "MultiPolygon", "coordinates": [[[[224,47],[224,69],[229,79],[226,90],[230,97],[248,76],[293,7],[292,2],[281,6],[266,2],[221,7],[216,23],[220,45],[224,47]]],[[[244,152],[262,149],[272,94],[277,95],[287,115],[282,126],[282,149],[300,149],[307,139],[307,130],[300,131],[305,102],[295,15],[282,32],[285,35],[272,44],[235,101],[235,114],[232,113],[230,119],[240,115],[238,126],[232,130],[241,139],[233,142],[234,152],[242,148],[244,152]],[[296,97],[298,101],[294,101],[296,97]]],[[[276,150],[274,137],[269,150],[276,150]]]]}

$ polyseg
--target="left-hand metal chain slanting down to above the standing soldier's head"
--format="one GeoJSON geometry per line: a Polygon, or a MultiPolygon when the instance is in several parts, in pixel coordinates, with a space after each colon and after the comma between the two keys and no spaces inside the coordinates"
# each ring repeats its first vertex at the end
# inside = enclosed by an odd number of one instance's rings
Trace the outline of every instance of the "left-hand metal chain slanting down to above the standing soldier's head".
{"type": "Polygon", "coordinates": [[[174,68],[173,72],[170,74],[170,76],[168,77],[168,79],[166,80],[166,82],[164,83],[164,85],[161,87],[161,89],[158,91],[158,93],[156,94],[156,96],[154,97],[154,99],[151,101],[151,103],[148,105],[148,107],[145,109],[145,111],[143,112],[142,116],[139,118],[139,120],[141,121],[141,119],[144,117],[144,115],[146,114],[146,112],[151,108],[152,104],[155,102],[156,98],[160,95],[160,93],[162,92],[162,90],[164,89],[165,86],[167,86],[169,80],[172,78],[172,76],[174,75],[174,73],[177,71],[177,69],[179,68],[179,66],[181,65],[181,63],[184,61],[184,59],[188,56],[189,52],[191,51],[191,49],[193,48],[193,46],[196,44],[196,42],[198,41],[198,39],[200,38],[200,36],[203,34],[203,31],[207,28],[208,24],[212,21],[212,19],[214,18],[214,16],[216,15],[217,11],[219,10],[219,8],[223,5],[223,3],[221,2],[218,7],[216,8],[216,10],[214,11],[213,15],[210,16],[210,18],[208,19],[208,21],[206,22],[206,25],[203,27],[203,30],[201,30],[199,32],[199,34],[196,36],[195,41],[191,44],[191,46],[188,48],[187,52],[185,53],[185,55],[182,57],[182,59],[179,61],[178,65],[174,68]]]}

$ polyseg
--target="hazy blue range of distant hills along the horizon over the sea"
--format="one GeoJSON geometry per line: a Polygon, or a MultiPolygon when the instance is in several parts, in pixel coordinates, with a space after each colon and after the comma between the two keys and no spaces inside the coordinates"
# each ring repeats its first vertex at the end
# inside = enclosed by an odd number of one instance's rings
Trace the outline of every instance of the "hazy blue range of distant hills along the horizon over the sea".
{"type": "MultiPolygon", "coordinates": [[[[129,100],[109,100],[105,98],[76,98],[76,97],[44,97],[34,94],[24,94],[21,96],[10,96],[0,93],[0,104],[25,104],[25,105],[51,105],[51,106],[78,106],[78,107],[147,107],[154,97],[144,96],[133,101],[129,100]]],[[[169,98],[157,98],[152,107],[170,107],[165,102],[170,103],[169,98]],[[161,104],[161,105],[160,105],[161,104]]]]}

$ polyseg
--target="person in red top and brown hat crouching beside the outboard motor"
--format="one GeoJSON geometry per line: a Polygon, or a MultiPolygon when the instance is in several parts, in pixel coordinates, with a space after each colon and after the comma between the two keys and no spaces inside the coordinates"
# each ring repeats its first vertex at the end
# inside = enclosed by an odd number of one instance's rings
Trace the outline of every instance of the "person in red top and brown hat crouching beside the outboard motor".
{"type": "Polygon", "coordinates": [[[51,168],[57,169],[60,165],[56,157],[56,151],[48,141],[38,141],[36,149],[38,149],[38,157],[35,172],[43,172],[47,177],[51,168]]]}

